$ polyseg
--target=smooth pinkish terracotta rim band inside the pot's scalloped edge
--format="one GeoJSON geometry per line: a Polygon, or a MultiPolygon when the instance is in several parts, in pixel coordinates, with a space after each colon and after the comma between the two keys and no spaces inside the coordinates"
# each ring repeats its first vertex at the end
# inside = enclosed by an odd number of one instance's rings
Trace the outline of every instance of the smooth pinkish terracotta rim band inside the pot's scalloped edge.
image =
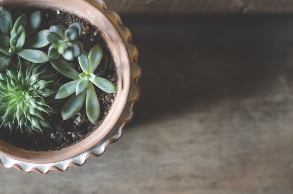
{"type": "MultiPolygon", "coordinates": [[[[128,51],[122,35],[103,11],[86,0],[3,0],[0,6],[13,8],[38,8],[62,10],[86,18],[101,32],[112,53],[117,69],[117,93],[115,101],[103,123],[82,141],[56,151],[30,152],[0,140],[0,154],[18,161],[46,164],[70,159],[101,142],[119,121],[125,108],[130,89],[131,70],[128,51]]],[[[118,123],[119,124],[119,123],[118,123]]]]}

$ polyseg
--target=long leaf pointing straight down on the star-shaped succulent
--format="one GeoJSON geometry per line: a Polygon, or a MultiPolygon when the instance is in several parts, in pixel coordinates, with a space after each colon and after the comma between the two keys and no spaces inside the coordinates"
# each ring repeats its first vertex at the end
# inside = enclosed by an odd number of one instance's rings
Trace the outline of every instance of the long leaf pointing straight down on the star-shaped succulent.
{"type": "Polygon", "coordinates": [[[86,89],[86,115],[91,123],[95,124],[100,116],[100,103],[91,82],[86,89]]]}

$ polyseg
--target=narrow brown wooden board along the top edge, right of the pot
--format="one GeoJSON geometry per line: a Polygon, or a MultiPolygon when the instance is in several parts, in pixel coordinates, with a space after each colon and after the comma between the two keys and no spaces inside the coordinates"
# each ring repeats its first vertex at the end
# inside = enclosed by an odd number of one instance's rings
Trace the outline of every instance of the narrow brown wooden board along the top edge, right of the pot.
{"type": "Polygon", "coordinates": [[[105,0],[127,15],[293,13],[291,0],[105,0]]]}

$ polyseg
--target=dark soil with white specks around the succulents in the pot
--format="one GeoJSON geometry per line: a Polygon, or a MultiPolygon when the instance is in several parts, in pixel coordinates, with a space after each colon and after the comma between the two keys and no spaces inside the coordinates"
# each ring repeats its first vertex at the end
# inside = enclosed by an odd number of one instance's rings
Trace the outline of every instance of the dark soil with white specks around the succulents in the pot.
{"type": "MultiPolygon", "coordinates": [[[[96,27],[92,26],[84,18],[80,18],[74,14],[62,11],[60,11],[60,14],[57,14],[57,11],[53,10],[41,11],[43,18],[40,30],[49,29],[51,25],[64,25],[68,28],[72,22],[81,23],[83,34],[79,41],[84,44],[85,52],[88,54],[90,49],[98,43],[103,47],[103,59],[94,73],[100,77],[108,79],[117,87],[117,74],[113,57],[105,40],[102,38],[96,27]]],[[[75,59],[72,62],[72,65],[77,71],[81,72],[78,59],[75,59]]],[[[66,83],[71,80],[62,79],[61,82],[62,81],[66,83]]],[[[13,130],[12,133],[10,133],[10,130],[1,129],[0,139],[9,142],[16,147],[30,151],[59,150],[81,141],[96,130],[96,128],[98,128],[103,122],[115,98],[115,94],[103,92],[96,86],[95,88],[100,102],[100,117],[95,124],[92,124],[87,119],[86,110],[83,106],[79,113],[73,118],[65,121],[62,119],[60,113],[52,114],[51,120],[49,121],[51,128],[42,128],[43,133],[34,132],[34,135],[29,135],[24,129],[22,130],[23,133],[20,131],[16,133],[16,130],[13,130]]],[[[60,110],[57,111],[60,112],[60,110]]]]}

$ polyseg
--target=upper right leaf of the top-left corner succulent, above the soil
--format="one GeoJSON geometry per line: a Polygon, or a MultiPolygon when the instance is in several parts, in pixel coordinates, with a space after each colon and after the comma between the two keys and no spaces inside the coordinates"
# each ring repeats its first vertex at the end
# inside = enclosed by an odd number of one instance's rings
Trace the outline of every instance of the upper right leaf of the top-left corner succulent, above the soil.
{"type": "MultiPolygon", "coordinates": [[[[41,11],[35,11],[31,13],[27,18],[27,24],[25,27],[26,37],[30,37],[41,25],[42,13],[41,11]]],[[[40,47],[39,47],[40,48],[40,47]]]]}

